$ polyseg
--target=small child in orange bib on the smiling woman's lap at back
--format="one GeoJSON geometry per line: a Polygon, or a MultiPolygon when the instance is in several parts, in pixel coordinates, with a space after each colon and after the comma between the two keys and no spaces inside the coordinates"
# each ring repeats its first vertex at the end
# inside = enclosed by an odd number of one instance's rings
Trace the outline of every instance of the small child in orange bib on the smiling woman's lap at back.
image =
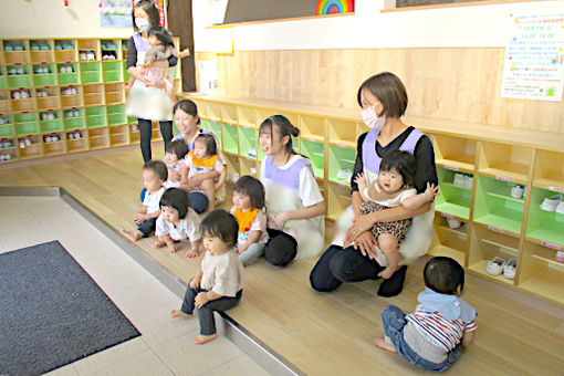
{"type": "Polygon", "coordinates": [[[194,150],[186,156],[186,168],[182,170],[181,185],[190,190],[203,191],[208,198],[208,211],[216,207],[216,192],[223,186],[227,170],[219,156],[216,138],[211,134],[200,134],[194,140],[194,150]],[[212,179],[199,179],[198,175],[211,170],[219,173],[217,181],[212,179]]]}

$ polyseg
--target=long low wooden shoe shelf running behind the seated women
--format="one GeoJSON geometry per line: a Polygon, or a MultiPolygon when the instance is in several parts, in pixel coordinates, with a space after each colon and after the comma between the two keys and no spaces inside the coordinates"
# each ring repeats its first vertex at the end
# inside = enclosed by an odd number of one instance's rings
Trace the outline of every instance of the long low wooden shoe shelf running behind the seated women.
{"type": "MultiPolygon", "coordinates": [[[[358,109],[212,95],[186,98],[196,102],[201,127],[216,134],[229,173],[238,176],[260,176],[259,127],[269,116],[286,116],[301,133],[294,149],[309,157],[323,187],[326,218],[336,220],[351,205],[344,171],[352,171],[356,140],[368,130],[358,109]],[[252,145],[257,157],[249,155],[252,145]]],[[[415,116],[404,122],[425,132],[435,148],[441,195],[429,254],[451,257],[473,274],[564,305],[564,264],[554,259],[564,248],[564,215],[540,209],[544,198],[564,196],[564,135],[415,116]],[[464,179],[467,185],[460,184],[464,179]],[[515,185],[525,188],[522,198],[511,196],[515,185]],[[451,229],[448,219],[461,227],[451,229]],[[485,273],[495,255],[518,259],[514,280],[485,273]]]]}

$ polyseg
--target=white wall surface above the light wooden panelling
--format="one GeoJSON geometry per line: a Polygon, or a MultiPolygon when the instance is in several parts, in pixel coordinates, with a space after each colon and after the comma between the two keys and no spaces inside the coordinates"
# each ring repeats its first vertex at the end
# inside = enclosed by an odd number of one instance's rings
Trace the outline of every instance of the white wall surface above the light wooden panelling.
{"type": "MultiPolygon", "coordinates": [[[[212,51],[212,0],[195,0],[195,50],[212,51]]],[[[234,27],[234,49],[309,50],[505,46],[511,15],[564,11],[564,1],[531,1],[380,13],[386,0],[356,0],[355,15],[234,27]]]]}

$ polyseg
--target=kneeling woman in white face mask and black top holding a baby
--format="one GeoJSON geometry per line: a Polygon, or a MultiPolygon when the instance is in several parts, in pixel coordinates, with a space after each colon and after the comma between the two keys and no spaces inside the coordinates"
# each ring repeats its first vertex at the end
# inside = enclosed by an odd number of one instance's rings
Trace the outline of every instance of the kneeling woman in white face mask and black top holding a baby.
{"type": "Polygon", "coordinates": [[[425,254],[430,246],[434,206],[428,205],[419,210],[395,207],[363,216],[358,212],[363,200],[354,179],[364,173],[369,184],[378,176],[384,156],[395,150],[409,152],[416,158],[414,186],[420,194],[425,191],[427,182],[438,185],[435,153],[426,135],[401,122],[407,107],[407,93],[396,75],[385,72],[369,77],[358,88],[357,100],[363,108],[363,121],[370,130],[361,135],[357,142],[351,179],[353,205],[338,219],[333,244],[317,261],[310,281],[313,289],[324,292],[337,289],[343,282],[377,280],[378,273],[386,267],[386,259],[369,229],[376,222],[414,218],[399,249],[400,264],[404,267],[383,281],[378,290],[380,296],[394,296],[404,286],[406,265],[425,254]]]}

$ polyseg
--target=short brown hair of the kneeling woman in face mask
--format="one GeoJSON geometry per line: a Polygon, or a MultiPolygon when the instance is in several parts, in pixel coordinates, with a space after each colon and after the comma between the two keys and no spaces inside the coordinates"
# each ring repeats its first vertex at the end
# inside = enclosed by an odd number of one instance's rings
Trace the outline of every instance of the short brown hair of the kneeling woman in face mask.
{"type": "Polygon", "coordinates": [[[363,106],[362,91],[366,88],[376,96],[384,107],[383,115],[388,117],[401,117],[407,108],[407,91],[397,75],[383,72],[373,75],[358,87],[356,98],[363,106]]]}

